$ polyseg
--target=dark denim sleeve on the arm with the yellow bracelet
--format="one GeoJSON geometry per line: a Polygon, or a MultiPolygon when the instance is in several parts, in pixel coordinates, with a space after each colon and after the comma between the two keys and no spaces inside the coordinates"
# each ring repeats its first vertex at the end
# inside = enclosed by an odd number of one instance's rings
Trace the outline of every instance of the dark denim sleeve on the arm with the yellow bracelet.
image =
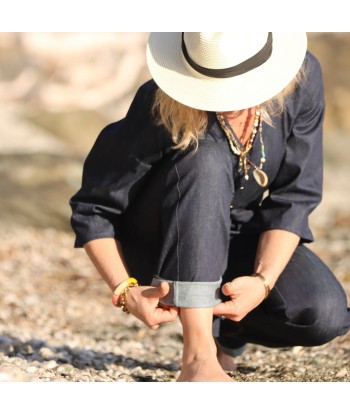
{"type": "Polygon", "coordinates": [[[149,83],[139,89],[127,116],[102,130],[85,160],[82,186],[70,199],[75,247],[99,238],[118,239],[122,213],[169,147],[169,139],[152,122],[153,90],[149,83]]]}

